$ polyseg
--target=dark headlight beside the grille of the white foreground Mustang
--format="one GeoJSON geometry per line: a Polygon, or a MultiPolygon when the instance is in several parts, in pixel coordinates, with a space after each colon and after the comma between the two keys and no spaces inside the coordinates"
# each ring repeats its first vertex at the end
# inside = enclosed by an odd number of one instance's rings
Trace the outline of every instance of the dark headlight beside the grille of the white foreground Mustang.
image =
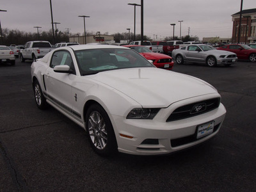
{"type": "Polygon", "coordinates": [[[153,119],[159,110],[159,108],[136,108],[132,109],[126,118],[153,119]]]}

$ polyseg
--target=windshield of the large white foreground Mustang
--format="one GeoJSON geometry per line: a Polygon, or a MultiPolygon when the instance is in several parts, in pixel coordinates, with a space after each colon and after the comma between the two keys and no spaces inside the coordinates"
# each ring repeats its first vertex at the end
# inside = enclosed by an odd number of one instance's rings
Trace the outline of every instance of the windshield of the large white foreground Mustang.
{"type": "Polygon", "coordinates": [[[154,67],[131,49],[86,49],[75,54],[82,76],[120,68],[154,67]]]}

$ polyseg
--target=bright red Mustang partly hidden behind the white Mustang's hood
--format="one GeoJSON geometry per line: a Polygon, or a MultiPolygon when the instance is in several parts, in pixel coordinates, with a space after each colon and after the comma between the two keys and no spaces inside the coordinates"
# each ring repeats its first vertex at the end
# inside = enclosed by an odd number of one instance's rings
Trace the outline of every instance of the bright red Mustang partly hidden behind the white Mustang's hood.
{"type": "Polygon", "coordinates": [[[147,60],[152,60],[153,64],[157,68],[164,68],[166,70],[172,70],[173,68],[172,57],[166,54],[152,52],[150,49],[142,45],[124,45],[124,47],[134,49],[134,51],[140,53],[147,60]]]}

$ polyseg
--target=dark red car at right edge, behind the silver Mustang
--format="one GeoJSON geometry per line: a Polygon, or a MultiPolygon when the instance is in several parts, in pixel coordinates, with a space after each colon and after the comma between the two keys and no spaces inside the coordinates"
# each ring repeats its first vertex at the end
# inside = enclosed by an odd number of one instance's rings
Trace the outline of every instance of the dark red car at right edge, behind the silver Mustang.
{"type": "Polygon", "coordinates": [[[230,51],[237,54],[239,60],[250,60],[252,62],[256,61],[256,49],[252,49],[248,45],[243,44],[230,44],[218,47],[219,50],[230,51]]]}

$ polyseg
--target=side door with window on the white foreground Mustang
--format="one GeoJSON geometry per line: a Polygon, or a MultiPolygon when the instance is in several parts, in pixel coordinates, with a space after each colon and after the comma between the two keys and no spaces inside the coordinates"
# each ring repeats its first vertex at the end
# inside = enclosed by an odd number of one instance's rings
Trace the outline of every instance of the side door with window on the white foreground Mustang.
{"type": "Polygon", "coordinates": [[[70,52],[67,50],[55,51],[45,72],[46,92],[51,102],[68,113],[72,113],[72,105],[76,96],[72,95],[72,84],[75,79],[76,71],[70,52]],[[56,65],[68,65],[74,70],[74,73],[54,72],[56,65]]]}

